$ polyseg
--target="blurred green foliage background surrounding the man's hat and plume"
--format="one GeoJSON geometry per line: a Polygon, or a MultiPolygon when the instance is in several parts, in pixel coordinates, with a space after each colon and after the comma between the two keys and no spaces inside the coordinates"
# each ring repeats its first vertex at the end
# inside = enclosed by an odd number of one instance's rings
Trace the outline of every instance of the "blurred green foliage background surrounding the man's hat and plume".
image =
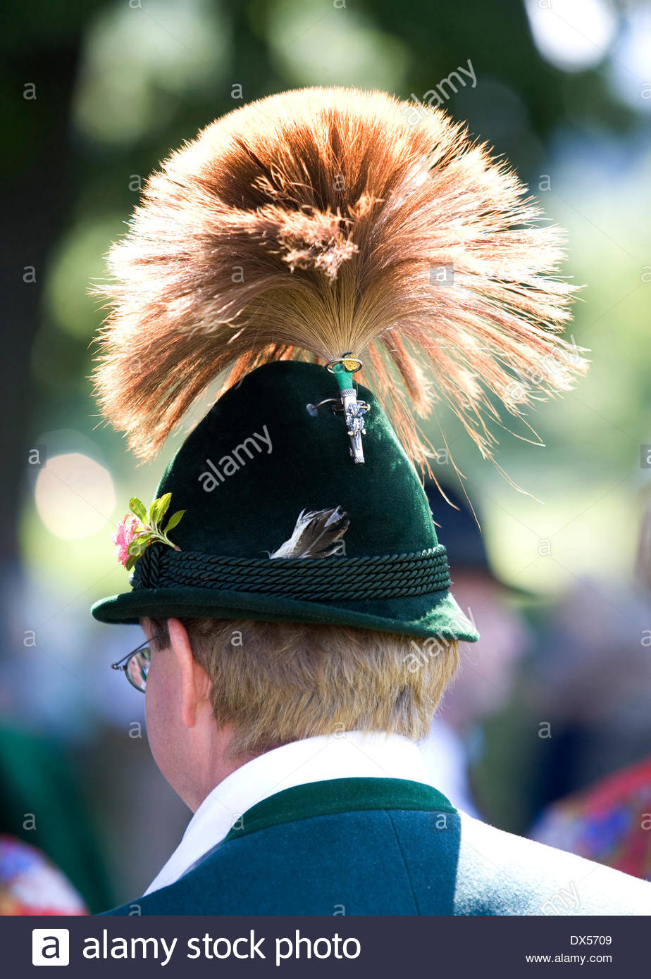
{"type": "MultiPolygon", "coordinates": [[[[651,9],[614,0],[35,0],[9,3],[9,14],[0,39],[0,704],[5,723],[69,760],[86,797],[76,817],[88,814],[93,859],[109,864],[102,893],[51,856],[102,907],[140,893],[187,818],[149,759],[138,695],[108,669],[139,632],[98,626],[88,613],[126,583],[110,537],[128,497],[153,496],[179,443],[137,468],[100,423],[87,380],[103,318],[88,286],[145,177],[214,117],[273,92],[439,91],[568,229],[565,273],[584,286],[571,333],[592,366],[575,392],[528,419],[545,448],[501,433],[499,463],[524,492],[482,461],[445,411],[429,434],[438,447],[439,425],[446,433],[495,568],[542,596],[525,610],[536,636],[581,583],[617,614],[617,588],[635,586],[651,443],[651,9]],[[469,65],[475,85],[458,73],[469,65]],[[149,824],[153,797],[166,813],[159,830],[149,824]]],[[[543,654],[532,653],[540,676],[543,654]]],[[[524,696],[517,687],[483,725],[475,774],[486,814],[519,831],[547,801],[530,786],[545,715],[524,710],[524,696]]],[[[48,805],[38,805],[47,823],[48,805]]]]}

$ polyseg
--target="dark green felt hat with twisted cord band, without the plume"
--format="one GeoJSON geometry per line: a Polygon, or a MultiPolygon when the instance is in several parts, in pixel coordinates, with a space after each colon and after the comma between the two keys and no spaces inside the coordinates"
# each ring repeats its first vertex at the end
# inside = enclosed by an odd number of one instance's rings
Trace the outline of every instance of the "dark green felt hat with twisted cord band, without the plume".
{"type": "Polygon", "coordinates": [[[427,496],[387,416],[359,386],[368,412],[364,462],[355,465],[344,415],[330,402],[318,407],[340,394],[324,367],[280,360],[221,396],[157,492],[171,493],[170,513],[185,510],[169,531],[179,549],[151,543],[131,590],[97,602],[93,616],[327,623],[476,640],[450,593],[427,496]],[[333,511],[339,526],[334,553],[271,556],[301,517],[321,511],[333,511]]]}

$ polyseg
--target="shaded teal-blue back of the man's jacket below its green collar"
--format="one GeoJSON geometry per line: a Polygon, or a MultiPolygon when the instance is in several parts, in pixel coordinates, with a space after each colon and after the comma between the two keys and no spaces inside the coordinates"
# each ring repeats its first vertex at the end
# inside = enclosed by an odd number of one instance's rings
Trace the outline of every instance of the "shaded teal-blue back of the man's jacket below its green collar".
{"type": "Polygon", "coordinates": [[[342,907],[417,913],[384,811],[313,816],[227,839],[173,884],[106,913],[333,914],[342,907]]]}

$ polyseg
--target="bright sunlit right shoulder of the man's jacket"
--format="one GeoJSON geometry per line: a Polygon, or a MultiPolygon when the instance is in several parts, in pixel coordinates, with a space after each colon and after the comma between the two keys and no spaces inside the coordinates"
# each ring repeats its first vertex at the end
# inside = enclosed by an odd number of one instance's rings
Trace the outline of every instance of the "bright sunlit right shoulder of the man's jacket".
{"type": "Polygon", "coordinates": [[[651,884],[460,814],[458,914],[651,914],[651,884]]]}

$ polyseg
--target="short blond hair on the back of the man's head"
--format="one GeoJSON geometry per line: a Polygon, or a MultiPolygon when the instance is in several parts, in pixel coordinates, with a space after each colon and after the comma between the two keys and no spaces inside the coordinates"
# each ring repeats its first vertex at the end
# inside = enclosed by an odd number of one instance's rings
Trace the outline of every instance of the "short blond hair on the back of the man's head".
{"type": "MultiPolygon", "coordinates": [[[[233,728],[233,755],[346,730],[418,741],[458,666],[458,643],[449,639],[284,622],[181,622],[209,675],[215,719],[233,728]]],[[[153,627],[164,646],[166,621],[153,627]]]]}

